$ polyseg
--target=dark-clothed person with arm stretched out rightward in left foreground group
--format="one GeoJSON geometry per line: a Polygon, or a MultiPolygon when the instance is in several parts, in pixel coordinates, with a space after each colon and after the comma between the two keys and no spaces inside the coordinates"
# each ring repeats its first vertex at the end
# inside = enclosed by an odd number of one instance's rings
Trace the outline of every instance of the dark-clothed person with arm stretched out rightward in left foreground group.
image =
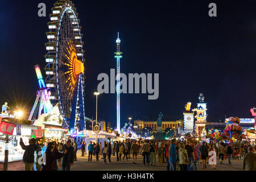
{"type": "Polygon", "coordinates": [[[61,159],[66,153],[67,150],[63,151],[63,154],[54,154],[53,146],[49,145],[46,150],[46,165],[43,165],[42,171],[54,171],[56,160],[61,159]]]}

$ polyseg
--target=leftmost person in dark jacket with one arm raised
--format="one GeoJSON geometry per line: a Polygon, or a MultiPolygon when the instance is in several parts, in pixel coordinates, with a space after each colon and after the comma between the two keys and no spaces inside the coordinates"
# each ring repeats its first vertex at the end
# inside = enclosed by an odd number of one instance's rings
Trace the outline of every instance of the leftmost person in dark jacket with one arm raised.
{"type": "Polygon", "coordinates": [[[32,171],[32,168],[34,166],[34,161],[35,161],[35,151],[36,149],[38,149],[38,147],[36,146],[36,139],[35,138],[31,138],[28,141],[29,145],[25,146],[25,144],[23,143],[23,139],[20,137],[20,146],[22,147],[23,150],[25,150],[24,154],[23,154],[23,164],[24,164],[24,170],[25,171],[32,171]]]}

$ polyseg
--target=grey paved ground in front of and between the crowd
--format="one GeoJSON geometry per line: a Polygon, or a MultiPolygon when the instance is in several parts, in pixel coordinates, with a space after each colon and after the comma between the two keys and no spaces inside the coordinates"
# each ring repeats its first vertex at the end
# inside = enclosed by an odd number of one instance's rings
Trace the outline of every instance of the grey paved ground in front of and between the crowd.
{"type": "MultiPolygon", "coordinates": [[[[102,156],[101,156],[102,157],[102,156]]],[[[103,164],[103,159],[96,162],[96,157],[93,156],[92,162],[88,162],[88,155],[81,157],[80,151],[77,152],[77,162],[72,166],[72,171],[166,171],[166,163],[163,167],[158,163],[156,158],[156,166],[143,166],[142,155],[138,156],[137,164],[133,164],[133,159],[128,159],[128,161],[116,162],[117,157],[112,156],[112,163],[103,164]]],[[[228,160],[224,160],[223,164],[217,162],[217,169],[211,169],[210,165],[207,164],[207,169],[203,169],[202,165],[199,163],[197,165],[198,171],[241,171],[242,170],[242,160],[236,159],[232,160],[232,164],[228,164],[228,160]]]]}

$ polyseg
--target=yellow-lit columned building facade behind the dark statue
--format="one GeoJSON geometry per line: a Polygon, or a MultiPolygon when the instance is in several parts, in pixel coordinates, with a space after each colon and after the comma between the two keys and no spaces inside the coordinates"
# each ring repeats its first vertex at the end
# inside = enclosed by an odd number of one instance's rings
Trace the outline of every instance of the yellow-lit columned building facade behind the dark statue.
{"type": "MultiPolygon", "coordinates": [[[[156,133],[157,123],[156,121],[142,121],[137,119],[134,121],[133,127],[135,132],[142,130],[144,127],[151,127],[152,131],[156,133]]],[[[162,132],[164,132],[164,130],[166,130],[168,127],[172,130],[183,130],[183,120],[162,121],[162,132]]]]}

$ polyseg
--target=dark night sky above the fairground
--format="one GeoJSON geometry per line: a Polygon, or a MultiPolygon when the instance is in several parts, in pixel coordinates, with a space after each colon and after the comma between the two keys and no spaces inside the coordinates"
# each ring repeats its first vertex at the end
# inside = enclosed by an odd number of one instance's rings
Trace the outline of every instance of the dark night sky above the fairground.
{"type": "MultiPolygon", "coordinates": [[[[46,66],[49,13],[55,0],[0,2],[0,104],[29,113],[46,66]],[[38,16],[38,3],[47,17],[38,16]]],[[[208,103],[208,122],[251,118],[256,106],[256,1],[84,1],[74,0],[85,42],[85,115],[95,118],[97,76],[116,67],[120,32],[121,72],[159,73],[159,98],[121,94],[121,127],[133,119],[183,119],[184,105],[208,103]],[[208,16],[210,2],[217,17],[208,16]]],[[[98,97],[98,117],[116,126],[116,94],[98,97]]]]}

